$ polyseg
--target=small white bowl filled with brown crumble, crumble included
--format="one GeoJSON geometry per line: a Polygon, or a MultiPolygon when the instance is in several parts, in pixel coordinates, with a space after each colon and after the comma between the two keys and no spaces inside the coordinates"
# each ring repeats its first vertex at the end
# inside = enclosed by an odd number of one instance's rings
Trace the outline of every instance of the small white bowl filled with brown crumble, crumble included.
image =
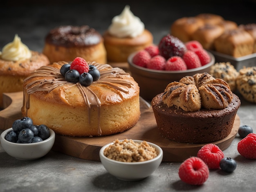
{"type": "Polygon", "coordinates": [[[138,181],[159,167],[163,151],[154,143],[117,139],[103,146],[99,156],[105,169],[113,176],[124,181],[138,181]]]}

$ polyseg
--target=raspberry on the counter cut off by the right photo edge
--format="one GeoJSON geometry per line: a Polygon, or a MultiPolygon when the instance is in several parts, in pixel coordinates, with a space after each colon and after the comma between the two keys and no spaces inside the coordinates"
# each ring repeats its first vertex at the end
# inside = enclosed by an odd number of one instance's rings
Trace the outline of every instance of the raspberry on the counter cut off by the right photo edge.
{"type": "Polygon", "coordinates": [[[237,150],[247,159],[256,159],[256,134],[250,133],[238,142],[237,150]]]}

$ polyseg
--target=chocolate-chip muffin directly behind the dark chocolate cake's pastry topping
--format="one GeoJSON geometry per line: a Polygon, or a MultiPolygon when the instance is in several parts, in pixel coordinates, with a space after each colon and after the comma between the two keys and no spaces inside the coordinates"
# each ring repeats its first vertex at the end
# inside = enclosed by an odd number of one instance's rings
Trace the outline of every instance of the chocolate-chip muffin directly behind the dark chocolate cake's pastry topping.
{"type": "Polygon", "coordinates": [[[238,77],[238,71],[229,62],[227,63],[215,63],[210,70],[211,76],[214,78],[221,78],[225,80],[232,92],[236,91],[236,78],[238,77]]]}

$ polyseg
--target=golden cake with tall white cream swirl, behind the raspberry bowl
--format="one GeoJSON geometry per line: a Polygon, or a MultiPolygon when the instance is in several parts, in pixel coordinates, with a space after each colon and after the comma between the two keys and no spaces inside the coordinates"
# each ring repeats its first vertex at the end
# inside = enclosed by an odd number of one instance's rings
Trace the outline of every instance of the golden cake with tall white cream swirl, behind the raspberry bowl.
{"type": "Polygon", "coordinates": [[[108,62],[127,62],[128,56],[153,44],[153,35],[127,5],[103,33],[108,62]]]}

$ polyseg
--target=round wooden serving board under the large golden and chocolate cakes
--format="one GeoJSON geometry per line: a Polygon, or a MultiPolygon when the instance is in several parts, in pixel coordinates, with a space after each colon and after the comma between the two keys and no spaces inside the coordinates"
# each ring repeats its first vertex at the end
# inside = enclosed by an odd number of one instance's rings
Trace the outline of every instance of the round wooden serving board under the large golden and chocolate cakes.
{"type": "MultiPolygon", "coordinates": [[[[22,92],[4,94],[4,103],[7,108],[0,111],[0,129],[5,130],[12,126],[13,121],[22,118],[20,109],[22,107],[22,92]]],[[[164,152],[163,161],[182,162],[190,156],[196,156],[198,150],[204,144],[177,143],[163,138],[155,122],[155,116],[150,105],[141,98],[141,117],[138,123],[127,131],[110,136],[100,137],[70,137],[56,134],[56,139],[52,150],[81,159],[100,161],[99,150],[103,145],[115,141],[115,139],[135,139],[145,140],[162,147],[164,152]]],[[[240,126],[240,118],[236,115],[234,127],[226,138],[214,142],[221,150],[227,149],[235,138],[240,126]]]]}

